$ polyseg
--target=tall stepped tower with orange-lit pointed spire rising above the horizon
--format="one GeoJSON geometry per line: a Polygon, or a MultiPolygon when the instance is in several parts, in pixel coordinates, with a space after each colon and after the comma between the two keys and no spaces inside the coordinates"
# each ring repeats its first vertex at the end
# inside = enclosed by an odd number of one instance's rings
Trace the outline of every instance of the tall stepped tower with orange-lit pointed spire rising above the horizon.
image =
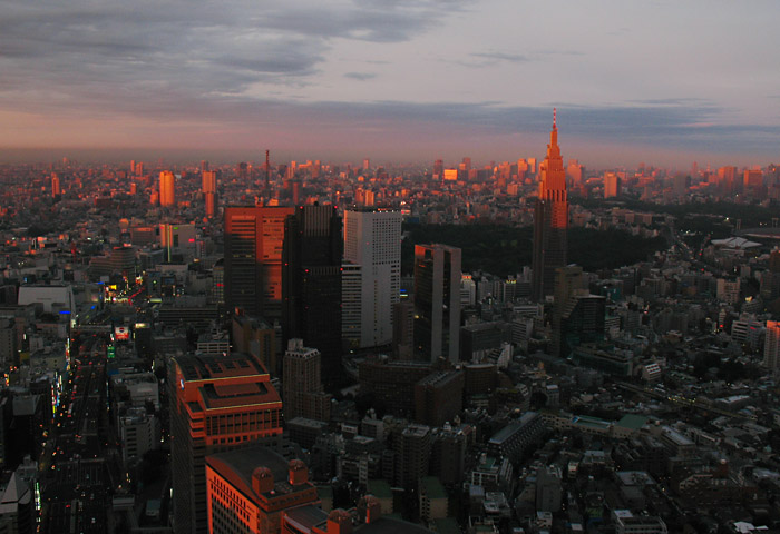
{"type": "Polygon", "coordinates": [[[539,195],[534,209],[534,284],[532,297],[542,300],[553,294],[555,269],[566,266],[568,199],[566,170],[558,147],[558,127],[553,111],[547,157],[539,166],[539,195]]]}

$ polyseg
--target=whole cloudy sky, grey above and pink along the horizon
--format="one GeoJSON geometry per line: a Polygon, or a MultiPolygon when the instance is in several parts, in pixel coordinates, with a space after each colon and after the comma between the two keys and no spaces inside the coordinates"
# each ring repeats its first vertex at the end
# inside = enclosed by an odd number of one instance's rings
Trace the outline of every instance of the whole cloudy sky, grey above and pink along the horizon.
{"type": "Polygon", "coordinates": [[[780,2],[0,0],[0,161],[780,162],[780,2]],[[449,160],[449,161],[448,161],[449,160]]]}

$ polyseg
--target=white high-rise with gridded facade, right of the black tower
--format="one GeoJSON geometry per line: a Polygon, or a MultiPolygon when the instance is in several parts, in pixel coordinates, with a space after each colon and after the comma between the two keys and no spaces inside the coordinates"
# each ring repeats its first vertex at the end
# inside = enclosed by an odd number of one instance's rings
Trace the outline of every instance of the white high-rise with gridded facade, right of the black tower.
{"type": "Polygon", "coordinates": [[[392,342],[392,305],[401,293],[401,217],[386,209],[344,211],[344,264],[351,267],[343,270],[350,284],[342,285],[342,301],[351,306],[342,313],[342,332],[361,348],[392,342]]]}

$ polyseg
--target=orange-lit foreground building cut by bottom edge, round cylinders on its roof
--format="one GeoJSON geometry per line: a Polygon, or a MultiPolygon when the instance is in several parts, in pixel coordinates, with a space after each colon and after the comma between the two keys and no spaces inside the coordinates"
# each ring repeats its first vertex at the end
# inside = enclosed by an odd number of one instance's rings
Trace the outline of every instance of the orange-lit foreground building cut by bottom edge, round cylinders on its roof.
{"type": "Polygon", "coordinates": [[[319,505],[309,469],[266,447],[206,458],[209,534],[276,534],[285,511],[319,505]]]}

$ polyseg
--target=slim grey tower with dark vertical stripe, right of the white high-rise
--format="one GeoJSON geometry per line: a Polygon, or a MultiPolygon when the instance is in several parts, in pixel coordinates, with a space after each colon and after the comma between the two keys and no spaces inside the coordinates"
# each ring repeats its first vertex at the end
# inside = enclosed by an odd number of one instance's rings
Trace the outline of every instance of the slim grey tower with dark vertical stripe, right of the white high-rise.
{"type": "Polygon", "coordinates": [[[460,249],[415,246],[415,359],[460,359],[460,249]]]}

